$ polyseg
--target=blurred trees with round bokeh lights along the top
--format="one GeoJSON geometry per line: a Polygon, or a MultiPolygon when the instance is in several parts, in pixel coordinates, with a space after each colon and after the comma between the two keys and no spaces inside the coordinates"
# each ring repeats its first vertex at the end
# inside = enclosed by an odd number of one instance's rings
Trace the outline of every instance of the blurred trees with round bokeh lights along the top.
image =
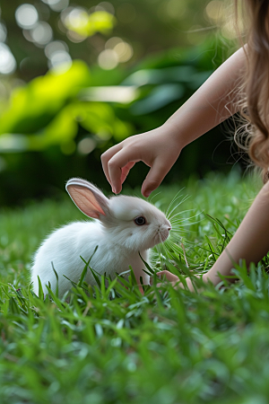
{"type": "MultiPolygon", "coordinates": [[[[29,81],[71,58],[105,69],[152,52],[203,43],[227,17],[227,0],[13,0],[1,2],[0,42],[29,81]]],[[[230,37],[231,29],[222,33],[230,37]]],[[[226,30],[226,31],[225,31],[226,30]]],[[[11,73],[14,71],[11,68],[11,73]]],[[[0,66],[1,72],[1,66],[0,66]]]]}

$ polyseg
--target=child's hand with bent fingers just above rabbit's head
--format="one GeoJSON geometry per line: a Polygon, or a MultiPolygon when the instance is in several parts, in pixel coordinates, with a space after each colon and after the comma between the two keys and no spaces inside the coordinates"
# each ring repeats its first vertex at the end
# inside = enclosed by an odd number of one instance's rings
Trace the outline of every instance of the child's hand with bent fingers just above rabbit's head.
{"type": "Polygon", "coordinates": [[[135,162],[144,162],[151,167],[142,186],[143,196],[147,198],[159,187],[180,152],[177,136],[163,126],[126,138],[102,154],[101,161],[112,191],[116,194],[121,191],[135,162]]]}

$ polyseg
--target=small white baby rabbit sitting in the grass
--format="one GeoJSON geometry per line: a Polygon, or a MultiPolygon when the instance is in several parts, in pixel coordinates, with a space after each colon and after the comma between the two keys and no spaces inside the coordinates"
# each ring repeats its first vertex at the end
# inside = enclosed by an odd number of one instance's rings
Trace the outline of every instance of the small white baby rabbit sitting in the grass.
{"type": "MultiPolygon", "coordinates": [[[[94,218],[91,222],[74,222],[51,233],[37,250],[31,268],[33,291],[39,294],[39,281],[46,294],[46,285],[63,296],[78,282],[96,246],[98,249],[91,258],[91,268],[100,275],[114,277],[115,273],[125,272],[131,266],[140,284],[149,285],[150,277],[143,271],[144,261],[149,260],[149,249],[164,242],[169,236],[171,224],[155,206],[140,198],[117,196],[107,198],[94,185],[86,180],[71,179],[66,190],[74,204],[84,215],[94,218]],[[81,257],[82,259],[81,259],[81,257]],[[65,277],[64,277],[65,275],[65,277]]],[[[96,285],[91,270],[88,269],[85,282],[96,285]]]]}

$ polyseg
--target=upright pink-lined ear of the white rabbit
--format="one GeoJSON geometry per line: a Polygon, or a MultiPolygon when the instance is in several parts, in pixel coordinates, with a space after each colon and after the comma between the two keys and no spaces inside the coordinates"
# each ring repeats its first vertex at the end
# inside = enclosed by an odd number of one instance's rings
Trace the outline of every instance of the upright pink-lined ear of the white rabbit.
{"type": "Polygon", "coordinates": [[[67,181],[65,189],[84,215],[99,219],[108,213],[108,198],[90,182],[73,178],[67,181]]]}

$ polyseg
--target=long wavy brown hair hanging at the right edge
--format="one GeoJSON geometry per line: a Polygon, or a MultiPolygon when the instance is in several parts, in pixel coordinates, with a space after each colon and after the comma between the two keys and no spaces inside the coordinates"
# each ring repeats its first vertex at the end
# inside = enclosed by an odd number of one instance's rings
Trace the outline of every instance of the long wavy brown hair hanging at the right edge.
{"type": "MultiPolygon", "coordinates": [[[[243,0],[247,22],[247,68],[242,85],[240,111],[247,119],[245,148],[251,160],[269,180],[269,1],[243,0]]],[[[239,13],[239,0],[235,0],[239,13]]]]}

